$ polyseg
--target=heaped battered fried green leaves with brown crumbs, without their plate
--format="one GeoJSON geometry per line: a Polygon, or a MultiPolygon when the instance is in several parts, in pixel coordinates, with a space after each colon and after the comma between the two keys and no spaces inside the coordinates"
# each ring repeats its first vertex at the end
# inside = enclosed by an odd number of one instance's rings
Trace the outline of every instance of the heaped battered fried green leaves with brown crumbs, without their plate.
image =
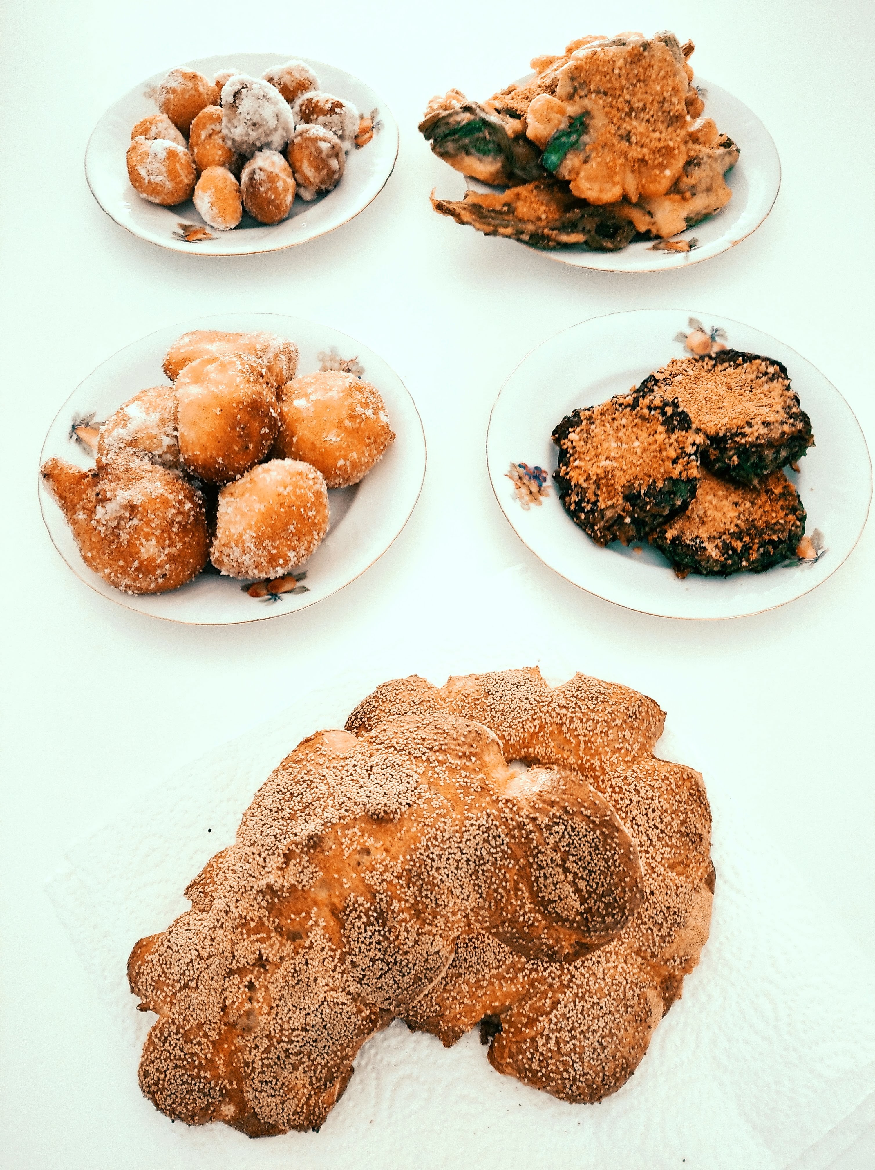
{"type": "Polygon", "coordinates": [[[702,116],[693,50],[674,33],[584,36],[482,104],[456,89],[432,98],[419,129],[434,153],[505,188],[433,197],[435,211],[487,235],[608,252],[718,212],[738,147],[702,116]]]}

